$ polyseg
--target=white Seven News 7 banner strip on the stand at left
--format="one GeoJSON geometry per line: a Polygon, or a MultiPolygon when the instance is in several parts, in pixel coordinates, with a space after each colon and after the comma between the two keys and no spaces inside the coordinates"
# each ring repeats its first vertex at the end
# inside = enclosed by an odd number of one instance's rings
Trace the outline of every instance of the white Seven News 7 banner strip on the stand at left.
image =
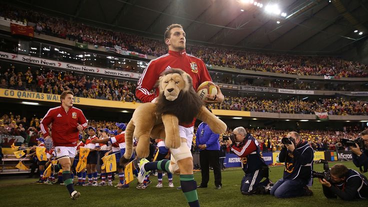
{"type": "Polygon", "coordinates": [[[90,73],[96,73],[96,74],[105,74],[105,75],[111,75],[111,76],[116,76],[116,77],[126,77],[126,78],[133,78],[133,79],[139,79],[141,76],[141,74],[137,72],[106,69],[106,68],[93,67],[93,66],[88,66],[88,65],[80,65],[80,64],[74,64],[74,63],[69,63],[69,62],[33,57],[29,55],[13,54],[13,53],[2,52],[2,51],[0,51],[0,58],[20,61],[20,62],[28,62],[32,64],[38,64],[38,65],[48,66],[48,67],[53,67],[53,68],[68,69],[68,70],[72,70],[76,72],[90,72],[90,73]]]}

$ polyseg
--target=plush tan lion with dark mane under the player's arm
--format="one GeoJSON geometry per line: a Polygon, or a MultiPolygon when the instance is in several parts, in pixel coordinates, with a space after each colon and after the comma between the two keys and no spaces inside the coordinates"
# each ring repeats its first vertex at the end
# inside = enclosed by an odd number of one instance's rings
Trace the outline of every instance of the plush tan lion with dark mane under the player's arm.
{"type": "Polygon", "coordinates": [[[226,124],[206,109],[193,89],[190,75],[183,70],[164,71],[156,86],[159,88],[156,103],[139,105],[126,126],[126,148],[120,164],[127,163],[131,157],[133,137],[138,139],[136,154],[142,158],[148,156],[150,137],[164,139],[168,148],[178,148],[179,122],[191,123],[194,117],[206,122],[215,133],[226,130],[226,124]]]}

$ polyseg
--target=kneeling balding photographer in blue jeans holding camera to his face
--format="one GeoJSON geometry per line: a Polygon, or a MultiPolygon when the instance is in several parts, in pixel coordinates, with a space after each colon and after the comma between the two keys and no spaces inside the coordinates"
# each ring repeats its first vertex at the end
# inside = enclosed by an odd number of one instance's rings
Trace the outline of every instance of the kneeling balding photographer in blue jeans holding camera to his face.
{"type": "Polygon", "coordinates": [[[285,162],[285,169],[270,194],[280,198],[312,195],[306,184],[311,183],[313,148],[307,141],[302,141],[295,131],[289,132],[281,142],[278,159],[285,162]]]}

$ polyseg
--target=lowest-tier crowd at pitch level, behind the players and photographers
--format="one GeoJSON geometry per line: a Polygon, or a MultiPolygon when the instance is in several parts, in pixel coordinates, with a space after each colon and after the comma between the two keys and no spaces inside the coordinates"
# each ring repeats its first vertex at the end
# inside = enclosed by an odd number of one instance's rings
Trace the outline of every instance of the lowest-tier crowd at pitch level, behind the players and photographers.
{"type": "MultiPolygon", "coordinates": [[[[21,117],[19,114],[12,112],[2,114],[0,119],[0,134],[20,135],[23,136],[23,144],[36,143],[36,138],[42,137],[40,132],[39,119],[36,116],[21,117]]],[[[106,120],[89,120],[88,124],[96,129],[96,135],[101,135],[100,129],[108,128],[110,131],[116,130],[115,121],[106,120]]],[[[287,130],[276,129],[256,129],[246,128],[246,131],[253,135],[260,143],[263,151],[278,151],[281,148],[281,138],[287,134],[287,130]]],[[[230,128],[224,134],[230,134],[230,128]]],[[[313,147],[314,150],[336,150],[344,149],[339,143],[340,138],[356,138],[358,131],[354,129],[346,129],[346,131],[334,130],[299,130],[300,137],[313,147]]],[[[82,132],[82,137],[87,134],[87,129],[82,132]]],[[[222,136],[220,136],[222,139],[222,136]]],[[[84,138],[83,138],[84,140],[84,138]]],[[[193,143],[195,137],[193,137],[193,143]]],[[[22,143],[17,143],[18,145],[22,143]]],[[[195,144],[194,144],[195,145],[195,144]]],[[[193,151],[197,151],[193,146],[193,151]]],[[[229,151],[229,148],[227,148],[229,151]]]]}

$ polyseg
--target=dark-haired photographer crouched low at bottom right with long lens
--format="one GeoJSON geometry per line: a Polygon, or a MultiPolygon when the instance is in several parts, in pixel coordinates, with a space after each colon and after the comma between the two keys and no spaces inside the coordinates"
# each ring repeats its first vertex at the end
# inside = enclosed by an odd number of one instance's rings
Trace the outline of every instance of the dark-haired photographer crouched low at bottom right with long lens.
{"type": "Polygon", "coordinates": [[[335,164],[329,170],[330,182],[319,178],[323,194],[327,198],[353,200],[368,197],[368,181],[359,172],[348,169],[343,164],[335,164]]]}

